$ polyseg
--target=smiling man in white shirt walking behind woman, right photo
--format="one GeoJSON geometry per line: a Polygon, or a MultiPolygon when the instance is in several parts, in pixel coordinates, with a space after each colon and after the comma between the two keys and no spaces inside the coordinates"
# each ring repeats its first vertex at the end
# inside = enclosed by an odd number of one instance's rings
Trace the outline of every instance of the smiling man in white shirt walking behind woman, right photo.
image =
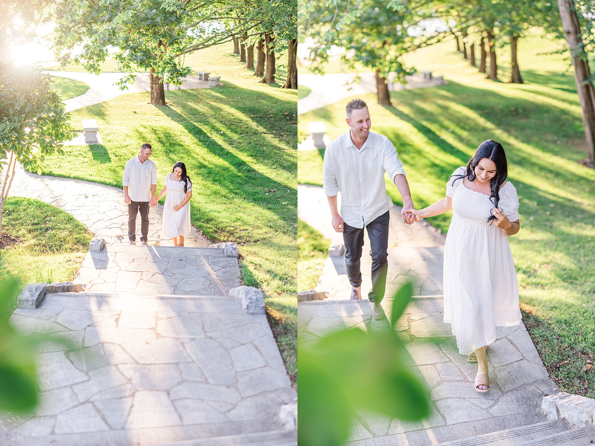
{"type": "MultiPolygon", "coordinates": [[[[372,133],[368,106],[353,99],[346,106],[349,131],[333,139],[325,153],[322,167],[324,193],[333,215],[335,231],[343,233],[345,266],[352,285],[351,299],[361,299],[362,274],[359,268],[364,246],[364,228],[368,229],[372,249],[372,290],[368,299],[372,316],[384,316],[380,302],[386,288],[388,271],[389,208],[392,200],[386,194],[384,172],[399,189],[403,209],[413,209],[409,184],[403,163],[386,136],[372,133]],[[341,191],[341,213],[337,193],[341,191]]],[[[403,221],[411,224],[412,216],[403,212],[403,221]]]]}

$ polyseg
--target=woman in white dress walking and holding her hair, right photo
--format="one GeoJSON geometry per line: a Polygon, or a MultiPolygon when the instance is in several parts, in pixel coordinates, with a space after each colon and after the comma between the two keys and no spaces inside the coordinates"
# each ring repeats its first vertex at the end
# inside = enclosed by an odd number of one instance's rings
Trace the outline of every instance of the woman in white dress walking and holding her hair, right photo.
{"type": "Polygon", "coordinates": [[[518,233],[518,197],[500,143],[481,143],[466,167],[446,185],[446,197],[408,210],[415,220],[453,210],[444,245],[444,322],[450,323],[461,354],[478,363],[475,390],[487,392],[486,347],[496,326],[518,325],[518,283],[508,235],[518,233]]]}

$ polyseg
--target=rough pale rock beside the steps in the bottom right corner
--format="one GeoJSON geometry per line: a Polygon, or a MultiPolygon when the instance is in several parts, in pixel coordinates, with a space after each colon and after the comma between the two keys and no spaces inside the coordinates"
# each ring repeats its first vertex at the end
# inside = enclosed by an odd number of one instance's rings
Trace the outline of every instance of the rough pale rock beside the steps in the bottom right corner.
{"type": "Polygon", "coordinates": [[[561,418],[571,428],[595,426],[595,400],[567,392],[547,395],[541,401],[541,410],[548,420],[561,418]]]}

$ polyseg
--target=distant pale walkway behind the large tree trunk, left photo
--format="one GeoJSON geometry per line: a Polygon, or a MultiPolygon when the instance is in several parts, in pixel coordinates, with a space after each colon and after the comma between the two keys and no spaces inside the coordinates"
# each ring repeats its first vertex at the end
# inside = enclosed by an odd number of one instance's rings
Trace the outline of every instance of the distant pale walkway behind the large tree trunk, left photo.
{"type": "MultiPolygon", "coordinates": [[[[134,84],[127,90],[120,90],[114,85],[114,82],[120,80],[127,73],[75,73],[73,71],[46,71],[52,76],[68,77],[74,80],[80,80],[89,85],[89,90],[83,95],[64,101],[66,111],[73,111],[77,108],[88,107],[104,100],[115,98],[116,96],[126,95],[126,93],[139,93],[151,91],[149,73],[137,73],[134,84]]],[[[170,85],[173,90],[173,85],[170,85]]],[[[181,89],[209,88],[209,82],[199,80],[198,76],[187,76],[186,81],[181,85],[181,89]]]]}

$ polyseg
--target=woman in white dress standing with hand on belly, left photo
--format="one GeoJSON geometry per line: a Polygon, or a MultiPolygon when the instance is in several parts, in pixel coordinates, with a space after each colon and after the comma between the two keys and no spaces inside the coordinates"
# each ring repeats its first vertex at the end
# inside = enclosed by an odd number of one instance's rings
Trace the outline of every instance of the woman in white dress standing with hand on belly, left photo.
{"type": "Polygon", "coordinates": [[[166,193],[161,237],[173,238],[174,246],[184,246],[184,235],[190,234],[188,202],[192,197],[192,181],[186,174],[186,165],[183,162],[178,161],[171,172],[165,175],[163,189],[159,192],[157,200],[166,193]]]}

